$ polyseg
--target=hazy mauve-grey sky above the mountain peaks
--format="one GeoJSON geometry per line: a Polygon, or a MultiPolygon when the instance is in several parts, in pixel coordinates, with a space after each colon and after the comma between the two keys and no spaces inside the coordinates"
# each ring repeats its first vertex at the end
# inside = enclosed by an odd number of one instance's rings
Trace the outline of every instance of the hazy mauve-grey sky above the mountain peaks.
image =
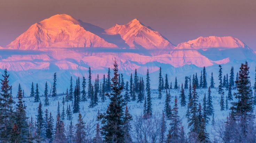
{"type": "Polygon", "coordinates": [[[256,0],[0,0],[0,46],[56,14],[104,29],[137,18],[174,45],[234,36],[256,50],[256,0]]]}

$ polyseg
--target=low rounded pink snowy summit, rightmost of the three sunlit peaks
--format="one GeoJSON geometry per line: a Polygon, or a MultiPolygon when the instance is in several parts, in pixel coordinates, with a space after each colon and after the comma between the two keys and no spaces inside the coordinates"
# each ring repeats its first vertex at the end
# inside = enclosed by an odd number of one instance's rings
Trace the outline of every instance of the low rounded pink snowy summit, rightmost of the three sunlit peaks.
{"type": "Polygon", "coordinates": [[[218,48],[219,50],[227,48],[246,48],[249,49],[245,43],[240,41],[238,38],[227,36],[227,37],[218,37],[218,36],[209,36],[209,37],[198,37],[194,40],[188,42],[180,43],[177,47],[182,48],[194,48],[198,49],[208,49],[208,48],[218,48]]]}

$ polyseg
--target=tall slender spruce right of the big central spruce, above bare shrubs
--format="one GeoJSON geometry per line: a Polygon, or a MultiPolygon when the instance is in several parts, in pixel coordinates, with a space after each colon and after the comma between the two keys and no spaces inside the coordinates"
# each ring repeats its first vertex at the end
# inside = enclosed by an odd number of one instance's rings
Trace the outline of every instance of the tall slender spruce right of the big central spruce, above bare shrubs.
{"type": "Polygon", "coordinates": [[[149,72],[147,70],[147,78],[146,78],[146,91],[147,91],[147,111],[146,116],[152,115],[152,103],[151,103],[151,91],[150,91],[150,79],[149,72]]]}

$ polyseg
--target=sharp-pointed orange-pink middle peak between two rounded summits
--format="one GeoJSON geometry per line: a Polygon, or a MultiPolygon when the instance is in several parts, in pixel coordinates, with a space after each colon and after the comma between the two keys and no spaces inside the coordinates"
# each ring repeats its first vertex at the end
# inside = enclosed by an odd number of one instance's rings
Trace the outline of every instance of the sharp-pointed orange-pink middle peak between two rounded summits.
{"type": "Polygon", "coordinates": [[[126,25],[116,24],[105,32],[109,35],[119,34],[130,48],[171,49],[174,47],[159,32],[144,26],[138,19],[133,19],[126,25]]]}

